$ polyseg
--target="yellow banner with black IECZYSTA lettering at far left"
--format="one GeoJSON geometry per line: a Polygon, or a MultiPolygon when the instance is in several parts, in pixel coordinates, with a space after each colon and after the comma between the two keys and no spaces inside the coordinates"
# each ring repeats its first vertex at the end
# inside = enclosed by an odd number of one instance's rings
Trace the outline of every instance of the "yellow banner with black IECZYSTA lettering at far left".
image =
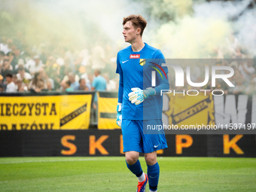
{"type": "Polygon", "coordinates": [[[0,96],[1,130],[87,130],[93,94],[0,96]]]}

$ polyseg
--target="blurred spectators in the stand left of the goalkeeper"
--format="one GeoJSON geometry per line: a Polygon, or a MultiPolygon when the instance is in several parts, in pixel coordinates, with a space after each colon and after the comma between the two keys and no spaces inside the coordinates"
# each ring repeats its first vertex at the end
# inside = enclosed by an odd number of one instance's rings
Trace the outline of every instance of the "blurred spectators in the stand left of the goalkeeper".
{"type": "Polygon", "coordinates": [[[118,79],[109,72],[111,62],[99,45],[74,53],[62,46],[37,49],[21,38],[2,37],[0,92],[116,91],[118,79]]]}

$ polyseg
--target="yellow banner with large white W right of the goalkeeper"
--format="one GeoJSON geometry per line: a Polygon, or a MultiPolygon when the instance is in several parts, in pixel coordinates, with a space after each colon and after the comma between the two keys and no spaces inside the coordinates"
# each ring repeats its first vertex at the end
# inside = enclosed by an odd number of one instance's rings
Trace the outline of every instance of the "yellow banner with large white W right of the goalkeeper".
{"type": "Polygon", "coordinates": [[[163,95],[166,134],[255,134],[256,96],[163,95]]]}

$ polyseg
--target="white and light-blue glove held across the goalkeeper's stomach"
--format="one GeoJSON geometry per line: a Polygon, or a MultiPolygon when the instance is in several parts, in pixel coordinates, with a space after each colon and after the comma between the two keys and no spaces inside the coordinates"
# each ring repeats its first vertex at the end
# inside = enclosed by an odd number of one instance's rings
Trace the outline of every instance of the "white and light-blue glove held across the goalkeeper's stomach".
{"type": "Polygon", "coordinates": [[[141,90],[139,88],[132,88],[133,92],[129,93],[129,100],[132,103],[135,103],[135,105],[139,105],[144,101],[144,99],[147,99],[148,96],[154,96],[156,94],[156,91],[153,88],[147,88],[146,90],[141,90]]]}

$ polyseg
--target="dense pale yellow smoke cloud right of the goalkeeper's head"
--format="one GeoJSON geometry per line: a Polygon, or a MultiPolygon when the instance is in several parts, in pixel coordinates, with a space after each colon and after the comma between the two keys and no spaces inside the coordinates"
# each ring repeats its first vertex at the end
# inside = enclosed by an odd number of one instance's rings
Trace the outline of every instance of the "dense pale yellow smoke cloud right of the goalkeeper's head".
{"type": "Polygon", "coordinates": [[[168,58],[209,58],[225,42],[230,25],[214,18],[183,17],[160,26],[154,44],[168,58]]]}

